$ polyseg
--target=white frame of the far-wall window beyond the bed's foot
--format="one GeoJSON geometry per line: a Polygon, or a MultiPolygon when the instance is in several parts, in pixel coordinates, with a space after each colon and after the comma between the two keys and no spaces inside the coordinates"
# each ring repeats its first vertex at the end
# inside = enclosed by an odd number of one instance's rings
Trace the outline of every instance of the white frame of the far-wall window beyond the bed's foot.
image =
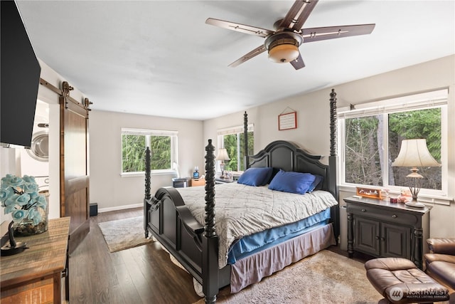
{"type": "Polygon", "coordinates": [[[120,132],[120,175],[122,177],[137,177],[144,176],[145,171],[137,172],[123,172],[123,153],[122,153],[122,137],[123,135],[141,135],[146,137],[145,147],[149,147],[150,140],[147,137],[150,136],[167,136],[171,137],[171,168],[169,169],[151,169],[152,175],[160,174],[176,174],[178,168],[178,131],[173,130],[155,130],[155,129],[140,129],[140,128],[129,128],[122,127],[120,132]]]}

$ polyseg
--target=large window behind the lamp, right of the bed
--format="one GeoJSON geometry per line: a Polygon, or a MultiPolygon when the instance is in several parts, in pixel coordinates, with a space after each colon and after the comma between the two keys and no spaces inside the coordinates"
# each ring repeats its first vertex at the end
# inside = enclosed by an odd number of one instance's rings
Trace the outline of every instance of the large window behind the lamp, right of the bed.
{"type": "Polygon", "coordinates": [[[392,162],[402,140],[424,138],[442,166],[418,168],[422,189],[446,194],[446,103],[447,90],[439,90],[338,110],[342,184],[407,187],[410,168],[392,167],[392,162]]]}

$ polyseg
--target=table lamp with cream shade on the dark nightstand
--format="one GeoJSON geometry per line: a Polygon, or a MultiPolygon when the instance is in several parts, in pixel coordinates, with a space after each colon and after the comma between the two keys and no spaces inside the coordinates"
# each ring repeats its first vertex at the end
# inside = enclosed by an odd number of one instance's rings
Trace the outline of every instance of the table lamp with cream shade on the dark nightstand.
{"type": "Polygon", "coordinates": [[[410,185],[412,200],[417,201],[420,187],[422,185],[422,175],[417,173],[417,167],[440,167],[441,164],[429,154],[427,140],[402,140],[400,153],[398,153],[392,166],[412,167],[411,173],[406,177],[414,179],[410,185]]]}

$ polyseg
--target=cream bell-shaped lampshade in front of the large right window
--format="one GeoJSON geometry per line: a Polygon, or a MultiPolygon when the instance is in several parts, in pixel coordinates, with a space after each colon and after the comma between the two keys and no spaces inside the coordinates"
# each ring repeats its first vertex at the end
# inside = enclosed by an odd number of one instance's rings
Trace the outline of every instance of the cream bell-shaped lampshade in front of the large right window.
{"type": "Polygon", "coordinates": [[[403,140],[400,153],[392,166],[440,167],[441,164],[429,154],[427,140],[403,140]]]}

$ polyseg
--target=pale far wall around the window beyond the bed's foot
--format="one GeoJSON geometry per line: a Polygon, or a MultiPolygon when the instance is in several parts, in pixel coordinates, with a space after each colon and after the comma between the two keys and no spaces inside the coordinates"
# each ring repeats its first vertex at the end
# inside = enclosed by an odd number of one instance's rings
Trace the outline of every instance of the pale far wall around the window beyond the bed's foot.
{"type": "MultiPolygon", "coordinates": [[[[96,100],[94,100],[96,103],[96,100]]],[[[90,130],[90,202],[98,211],[142,206],[144,176],[121,177],[122,127],[178,131],[181,177],[191,177],[195,166],[204,166],[203,122],[168,117],[92,110],[90,130]]],[[[172,174],[152,175],[151,194],[172,186],[172,174]]]]}

